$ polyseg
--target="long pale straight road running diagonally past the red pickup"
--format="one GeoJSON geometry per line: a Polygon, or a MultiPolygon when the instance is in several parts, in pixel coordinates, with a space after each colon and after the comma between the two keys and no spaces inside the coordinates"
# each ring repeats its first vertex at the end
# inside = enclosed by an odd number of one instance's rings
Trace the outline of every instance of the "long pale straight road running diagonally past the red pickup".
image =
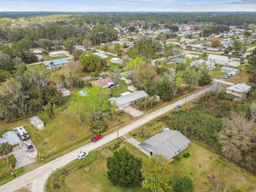
{"type": "MultiPolygon", "coordinates": [[[[142,126],[143,124],[149,122],[150,120],[161,116],[165,114],[166,112],[174,109],[174,106],[177,104],[184,104],[185,100],[186,102],[189,102],[191,100],[194,100],[195,98],[201,96],[202,94],[205,94],[206,91],[209,92],[216,88],[217,82],[214,80],[212,84],[202,90],[199,90],[198,92],[187,96],[187,98],[183,98],[173,104],[170,104],[168,106],[164,106],[163,108],[160,108],[159,110],[156,110],[152,112],[151,114],[144,115],[143,118],[138,118],[135,122],[124,126],[123,128],[119,129],[119,136],[122,136],[131,130],[134,130],[138,128],[139,126],[142,126]]],[[[68,154],[65,154],[64,156],[61,156],[35,170],[32,170],[31,172],[28,172],[18,178],[15,178],[14,180],[8,182],[7,184],[4,184],[0,186],[0,191],[1,192],[12,192],[14,190],[18,190],[19,188],[25,187],[25,186],[30,186],[30,190],[32,192],[44,192],[44,187],[46,184],[46,181],[52,171],[59,169],[66,164],[70,163],[71,161],[75,160],[77,158],[77,155],[80,153],[80,149],[82,151],[92,151],[95,150],[96,148],[107,144],[108,142],[115,140],[117,138],[117,132],[113,132],[111,134],[108,134],[104,136],[103,139],[97,141],[97,142],[92,142],[90,144],[87,144],[81,148],[78,148],[72,152],[69,152],[68,154]]]]}

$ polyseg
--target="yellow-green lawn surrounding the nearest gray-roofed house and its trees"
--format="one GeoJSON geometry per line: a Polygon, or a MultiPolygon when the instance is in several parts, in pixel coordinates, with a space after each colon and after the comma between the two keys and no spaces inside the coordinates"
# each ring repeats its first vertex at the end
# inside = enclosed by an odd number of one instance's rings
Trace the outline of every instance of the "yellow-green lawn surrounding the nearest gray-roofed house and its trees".
{"type": "MultiPolygon", "coordinates": [[[[113,151],[110,150],[112,145],[114,145],[114,143],[92,152],[85,159],[75,160],[62,170],[54,173],[48,181],[47,191],[58,191],[52,188],[52,186],[54,182],[56,182],[56,179],[62,175],[62,173],[66,172],[68,173],[66,176],[63,176],[60,185],[66,186],[73,192],[148,191],[142,189],[139,184],[136,187],[124,188],[119,185],[114,186],[110,180],[108,180],[106,158],[112,156],[113,151]],[[90,172],[88,173],[84,172],[84,168],[87,166],[90,168],[90,172]]],[[[128,142],[123,142],[120,145],[120,148],[121,147],[126,147],[126,149],[136,157],[147,158],[144,153],[140,152],[128,142]]],[[[223,188],[228,188],[231,191],[253,192],[256,190],[256,178],[252,174],[206,150],[196,142],[191,142],[189,147],[178,154],[178,156],[180,160],[176,160],[175,158],[172,161],[174,170],[169,182],[172,187],[175,185],[175,181],[178,178],[187,176],[193,180],[194,192],[213,191],[217,185],[216,183],[222,183],[221,186],[223,188]],[[183,157],[185,152],[190,153],[188,158],[183,157]],[[215,179],[210,180],[209,178],[215,179]]],[[[168,189],[166,192],[173,192],[173,190],[168,189]]]]}

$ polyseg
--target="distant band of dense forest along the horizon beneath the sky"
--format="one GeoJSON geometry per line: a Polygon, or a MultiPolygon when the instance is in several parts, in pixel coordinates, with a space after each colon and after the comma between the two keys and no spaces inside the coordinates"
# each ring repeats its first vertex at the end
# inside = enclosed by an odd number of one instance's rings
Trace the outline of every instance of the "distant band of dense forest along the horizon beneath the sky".
{"type": "Polygon", "coordinates": [[[166,24],[168,21],[176,24],[215,22],[228,26],[256,23],[255,12],[0,12],[0,18],[12,19],[51,15],[65,16],[76,24],[114,24],[133,20],[160,24],[166,24]]]}

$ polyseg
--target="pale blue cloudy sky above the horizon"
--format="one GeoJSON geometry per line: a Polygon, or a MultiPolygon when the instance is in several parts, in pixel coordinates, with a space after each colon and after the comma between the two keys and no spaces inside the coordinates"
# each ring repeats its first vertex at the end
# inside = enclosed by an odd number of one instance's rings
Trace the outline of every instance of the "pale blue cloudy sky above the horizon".
{"type": "Polygon", "coordinates": [[[256,12],[256,0],[0,0],[2,11],[256,12]]]}

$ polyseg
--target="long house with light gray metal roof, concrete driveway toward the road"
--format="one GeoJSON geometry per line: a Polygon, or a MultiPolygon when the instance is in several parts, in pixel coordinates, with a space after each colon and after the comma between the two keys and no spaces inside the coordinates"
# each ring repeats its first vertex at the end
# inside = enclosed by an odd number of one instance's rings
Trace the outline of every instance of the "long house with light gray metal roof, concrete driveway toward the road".
{"type": "Polygon", "coordinates": [[[118,98],[112,97],[109,99],[110,103],[116,102],[118,108],[124,108],[132,104],[135,100],[146,98],[148,94],[144,91],[135,91],[130,94],[126,94],[124,96],[120,96],[118,98]]]}

